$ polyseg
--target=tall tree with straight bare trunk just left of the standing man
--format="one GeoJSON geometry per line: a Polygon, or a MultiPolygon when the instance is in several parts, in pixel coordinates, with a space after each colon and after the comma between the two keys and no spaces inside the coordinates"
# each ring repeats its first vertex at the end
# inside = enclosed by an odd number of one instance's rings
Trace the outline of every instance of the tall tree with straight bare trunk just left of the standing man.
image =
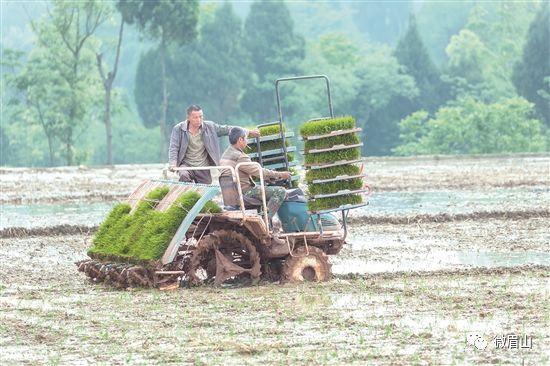
{"type": "MultiPolygon", "coordinates": [[[[119,0],[117,4],[124,21],[136,23],[141,32],[157,40],[160,63],[162,103],[159,118],[161,146],[160,160],[165,160],[168,130],[168,83],[166,78],[167,48],[171,44],[185,44],[196,37],[198,2],[196,0],[147,1],[119,0]]],[[[153,80],[150,80],[153,82],[153,80]]],[[[142,116],[143,118],[143,116],[142,116]]]]}

